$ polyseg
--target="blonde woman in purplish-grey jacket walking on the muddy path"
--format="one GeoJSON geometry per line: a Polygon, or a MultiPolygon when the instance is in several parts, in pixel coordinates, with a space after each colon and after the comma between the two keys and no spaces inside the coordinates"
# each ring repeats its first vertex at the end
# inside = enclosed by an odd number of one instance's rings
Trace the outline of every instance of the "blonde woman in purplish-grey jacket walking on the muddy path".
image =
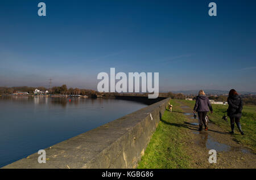
{"type": "Polygon", "coordinates": [[[207,131],[208,130],[208,123],[205,121],[205,117],[207,115],[207,113],[209,112],[212,113],[213,109],[212,109],[212,105],[210,104],[209,98],[207,96],[205,96],[205,93],[203,90],[199,91],[198,96],[196,97],[196,104],[194,106],[193,109],[193,113],[198,113],[198,117],[199,117],[199,131],[201,131],[203,129],[203,124],[204,124],[204,130],[207,131]]]}

